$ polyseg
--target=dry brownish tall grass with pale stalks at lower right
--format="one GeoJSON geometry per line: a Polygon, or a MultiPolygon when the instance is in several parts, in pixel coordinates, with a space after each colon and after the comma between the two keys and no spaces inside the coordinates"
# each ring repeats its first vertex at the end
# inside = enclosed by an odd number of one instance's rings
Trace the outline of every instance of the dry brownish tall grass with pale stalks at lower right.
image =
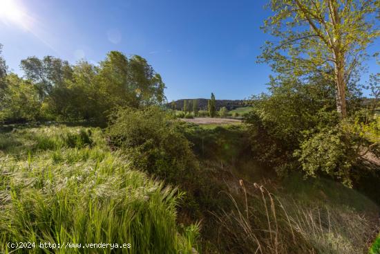
{"type": "MultiPolygon", "coordinates": [[[[377,226],[354,210],[308,206],[281,199],[263,185],[247,190],[241,200],[231,194],[234,210],[216,215],[220,234],[228,235],[231,253],[368,253],[377,226]]],[[[225,244],[220,242],[220,244],[225,244]]]]}

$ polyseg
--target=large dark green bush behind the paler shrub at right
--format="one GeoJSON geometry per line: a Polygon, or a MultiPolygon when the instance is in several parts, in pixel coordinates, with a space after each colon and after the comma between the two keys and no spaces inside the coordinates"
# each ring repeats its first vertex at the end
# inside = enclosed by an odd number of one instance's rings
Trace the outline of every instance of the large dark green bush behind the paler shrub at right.
{"type": "Polygon", "coordinates": [[[272,80],[269,92],[252,99],[245,120],[256,158],[283,174],[299,167],[293,152],[304,140],[304,131],[335,126],[339,116],[334,113],[334,92],[321,77],[306,83],[272,80]]]}

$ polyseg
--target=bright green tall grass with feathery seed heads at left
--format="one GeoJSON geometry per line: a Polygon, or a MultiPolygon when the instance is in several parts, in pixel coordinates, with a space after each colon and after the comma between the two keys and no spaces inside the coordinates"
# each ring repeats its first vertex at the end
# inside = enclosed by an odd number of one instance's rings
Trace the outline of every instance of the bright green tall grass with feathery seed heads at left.
{"type": "Polygon", "coordinates": [[[99,129],[21,129],[0,140],[0,253],[15,251],[7,242],[131,244],[32,253],[193,252],[198,226],[175,223],[182,193],[131,170],[99,129]]]}

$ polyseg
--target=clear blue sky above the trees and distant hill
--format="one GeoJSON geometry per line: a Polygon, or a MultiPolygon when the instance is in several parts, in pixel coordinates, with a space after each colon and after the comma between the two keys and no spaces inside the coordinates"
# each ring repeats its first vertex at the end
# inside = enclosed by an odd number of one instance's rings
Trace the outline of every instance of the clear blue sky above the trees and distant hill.
{"type": "MultiPolygon", "coordinates": [[[[168,100],[211,92],[243,99],[265,91],[269,80],[269,67],[256,63],[269,39],[260,30],[270,15],[264,0],[0,1],[15,2],[27,15],[0,19],[3,55],[17,73],[20,60],[32,55],[96,63],[117,50],[145,57],[162,75],[168,100]]],[[[370,71],[376,68],[372,61],[370,71]]]]}

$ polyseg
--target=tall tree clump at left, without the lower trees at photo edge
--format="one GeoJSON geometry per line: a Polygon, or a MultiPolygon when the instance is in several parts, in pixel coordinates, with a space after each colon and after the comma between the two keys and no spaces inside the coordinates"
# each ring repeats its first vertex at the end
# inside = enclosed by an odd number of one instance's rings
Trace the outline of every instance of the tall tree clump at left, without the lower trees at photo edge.
{"type": "Polygon", "coordinates": [[[164,82],[143,57],[130,59],[111,51],[94,66],[46,56],[21,61],[25,77],[37,87],[39,101],[49,116],[65,120],[94,120],[107,123],[116,107],[146,107],[165,101],[164,82]]]}

